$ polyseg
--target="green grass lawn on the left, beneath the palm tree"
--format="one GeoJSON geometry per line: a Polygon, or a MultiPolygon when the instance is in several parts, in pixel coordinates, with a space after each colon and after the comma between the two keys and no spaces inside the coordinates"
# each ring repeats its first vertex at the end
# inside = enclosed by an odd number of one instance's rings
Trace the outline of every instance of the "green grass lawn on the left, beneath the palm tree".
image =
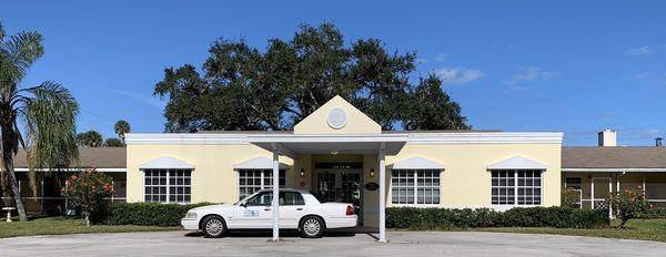
{"type": "Polygon", "coordinates": [[[85,233],[121,233],[121,232],[164,232],[178,230],[180,227],[151,227],[151,226],[85,226],[79,217],[47,217],[37,218],[27,223],[6,223],[0,220],[0,238],[36,235],[65,235],[85,233]]]}

